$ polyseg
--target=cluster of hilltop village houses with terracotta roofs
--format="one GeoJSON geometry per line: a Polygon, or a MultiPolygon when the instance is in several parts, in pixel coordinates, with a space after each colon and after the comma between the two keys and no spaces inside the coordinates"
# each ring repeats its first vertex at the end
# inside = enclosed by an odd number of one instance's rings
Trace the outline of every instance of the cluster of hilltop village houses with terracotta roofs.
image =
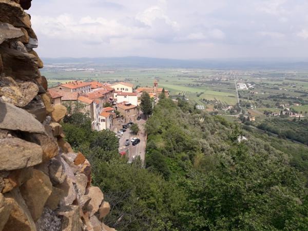
{"type": "Polygon", "coordinates": [[[53,105],[64,105],[68,112],[78,107],[89,115],[92,129],[97,131],[115,131],[123,124],[135,122],[140,115],[140,98],[144,91],[149,93],[153,102],[157,102],[162,93],[169,97],[169,91],[159,88],[157,81],[152,87],[137,89],[126,82],[108,84],[82,81],[68,82],[48,89],[53,105]]]}

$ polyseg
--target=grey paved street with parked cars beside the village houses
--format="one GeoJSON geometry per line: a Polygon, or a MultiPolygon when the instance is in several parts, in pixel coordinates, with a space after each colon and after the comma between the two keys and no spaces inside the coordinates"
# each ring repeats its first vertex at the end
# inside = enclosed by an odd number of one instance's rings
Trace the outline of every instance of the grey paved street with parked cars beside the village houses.
{"type": "Polygon", "coordinates": [[[120,139],[120,148],[119,152],[126,151],[126,155],[128,156],[129,160],[132,160],[134,156],[140,156],[140,159],[144,162],[145,160],[145,148],[146,148],[146,133],[144,129],[145,118],[143,114],[141,115],[142,119],[140,121],[136,121],[139,126],[139,134],[138,136],[133,135],[130,133],[130,129],[124,132],[123,136],[120,139]],[[129,141],[132,138],[139,138],[140,143],[136,146],[132,146],[131,142],[128,147],[125,146],[125,141],[128,139],[129,141]]]}

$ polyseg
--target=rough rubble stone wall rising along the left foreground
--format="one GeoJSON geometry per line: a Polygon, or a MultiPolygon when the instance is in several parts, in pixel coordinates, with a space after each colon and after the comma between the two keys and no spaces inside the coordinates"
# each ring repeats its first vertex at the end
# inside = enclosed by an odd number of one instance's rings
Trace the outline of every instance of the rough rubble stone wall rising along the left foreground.
{"type": "Polygon", "coordinates": [[[33,50],[31,0],[0,0],[0,231],[114,230],[91,166],[65,141],[43,62],[33,50]]]}

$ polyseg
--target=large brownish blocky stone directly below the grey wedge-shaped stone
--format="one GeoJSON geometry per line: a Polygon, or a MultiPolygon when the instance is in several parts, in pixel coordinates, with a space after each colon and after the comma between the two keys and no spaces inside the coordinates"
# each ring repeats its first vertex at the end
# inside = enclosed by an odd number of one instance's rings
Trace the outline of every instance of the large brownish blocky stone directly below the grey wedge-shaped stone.
{"type": "Polygon", "coordinates": [[[0,170],[15,170],[42,163],[40,146],[18,138],[0,139],[0,170]]]}

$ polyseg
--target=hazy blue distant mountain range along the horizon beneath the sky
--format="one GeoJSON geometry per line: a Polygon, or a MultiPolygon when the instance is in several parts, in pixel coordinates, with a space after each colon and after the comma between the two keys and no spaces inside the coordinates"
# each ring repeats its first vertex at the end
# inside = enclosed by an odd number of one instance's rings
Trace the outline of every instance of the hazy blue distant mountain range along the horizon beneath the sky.
{"type": "Polygon", "coordinates": [[[207,68],[207,69],[305,69],[308,59],[203,59],[175,60],[152,57],[43,58],[45,66],[74,68],[207,68]]]}

